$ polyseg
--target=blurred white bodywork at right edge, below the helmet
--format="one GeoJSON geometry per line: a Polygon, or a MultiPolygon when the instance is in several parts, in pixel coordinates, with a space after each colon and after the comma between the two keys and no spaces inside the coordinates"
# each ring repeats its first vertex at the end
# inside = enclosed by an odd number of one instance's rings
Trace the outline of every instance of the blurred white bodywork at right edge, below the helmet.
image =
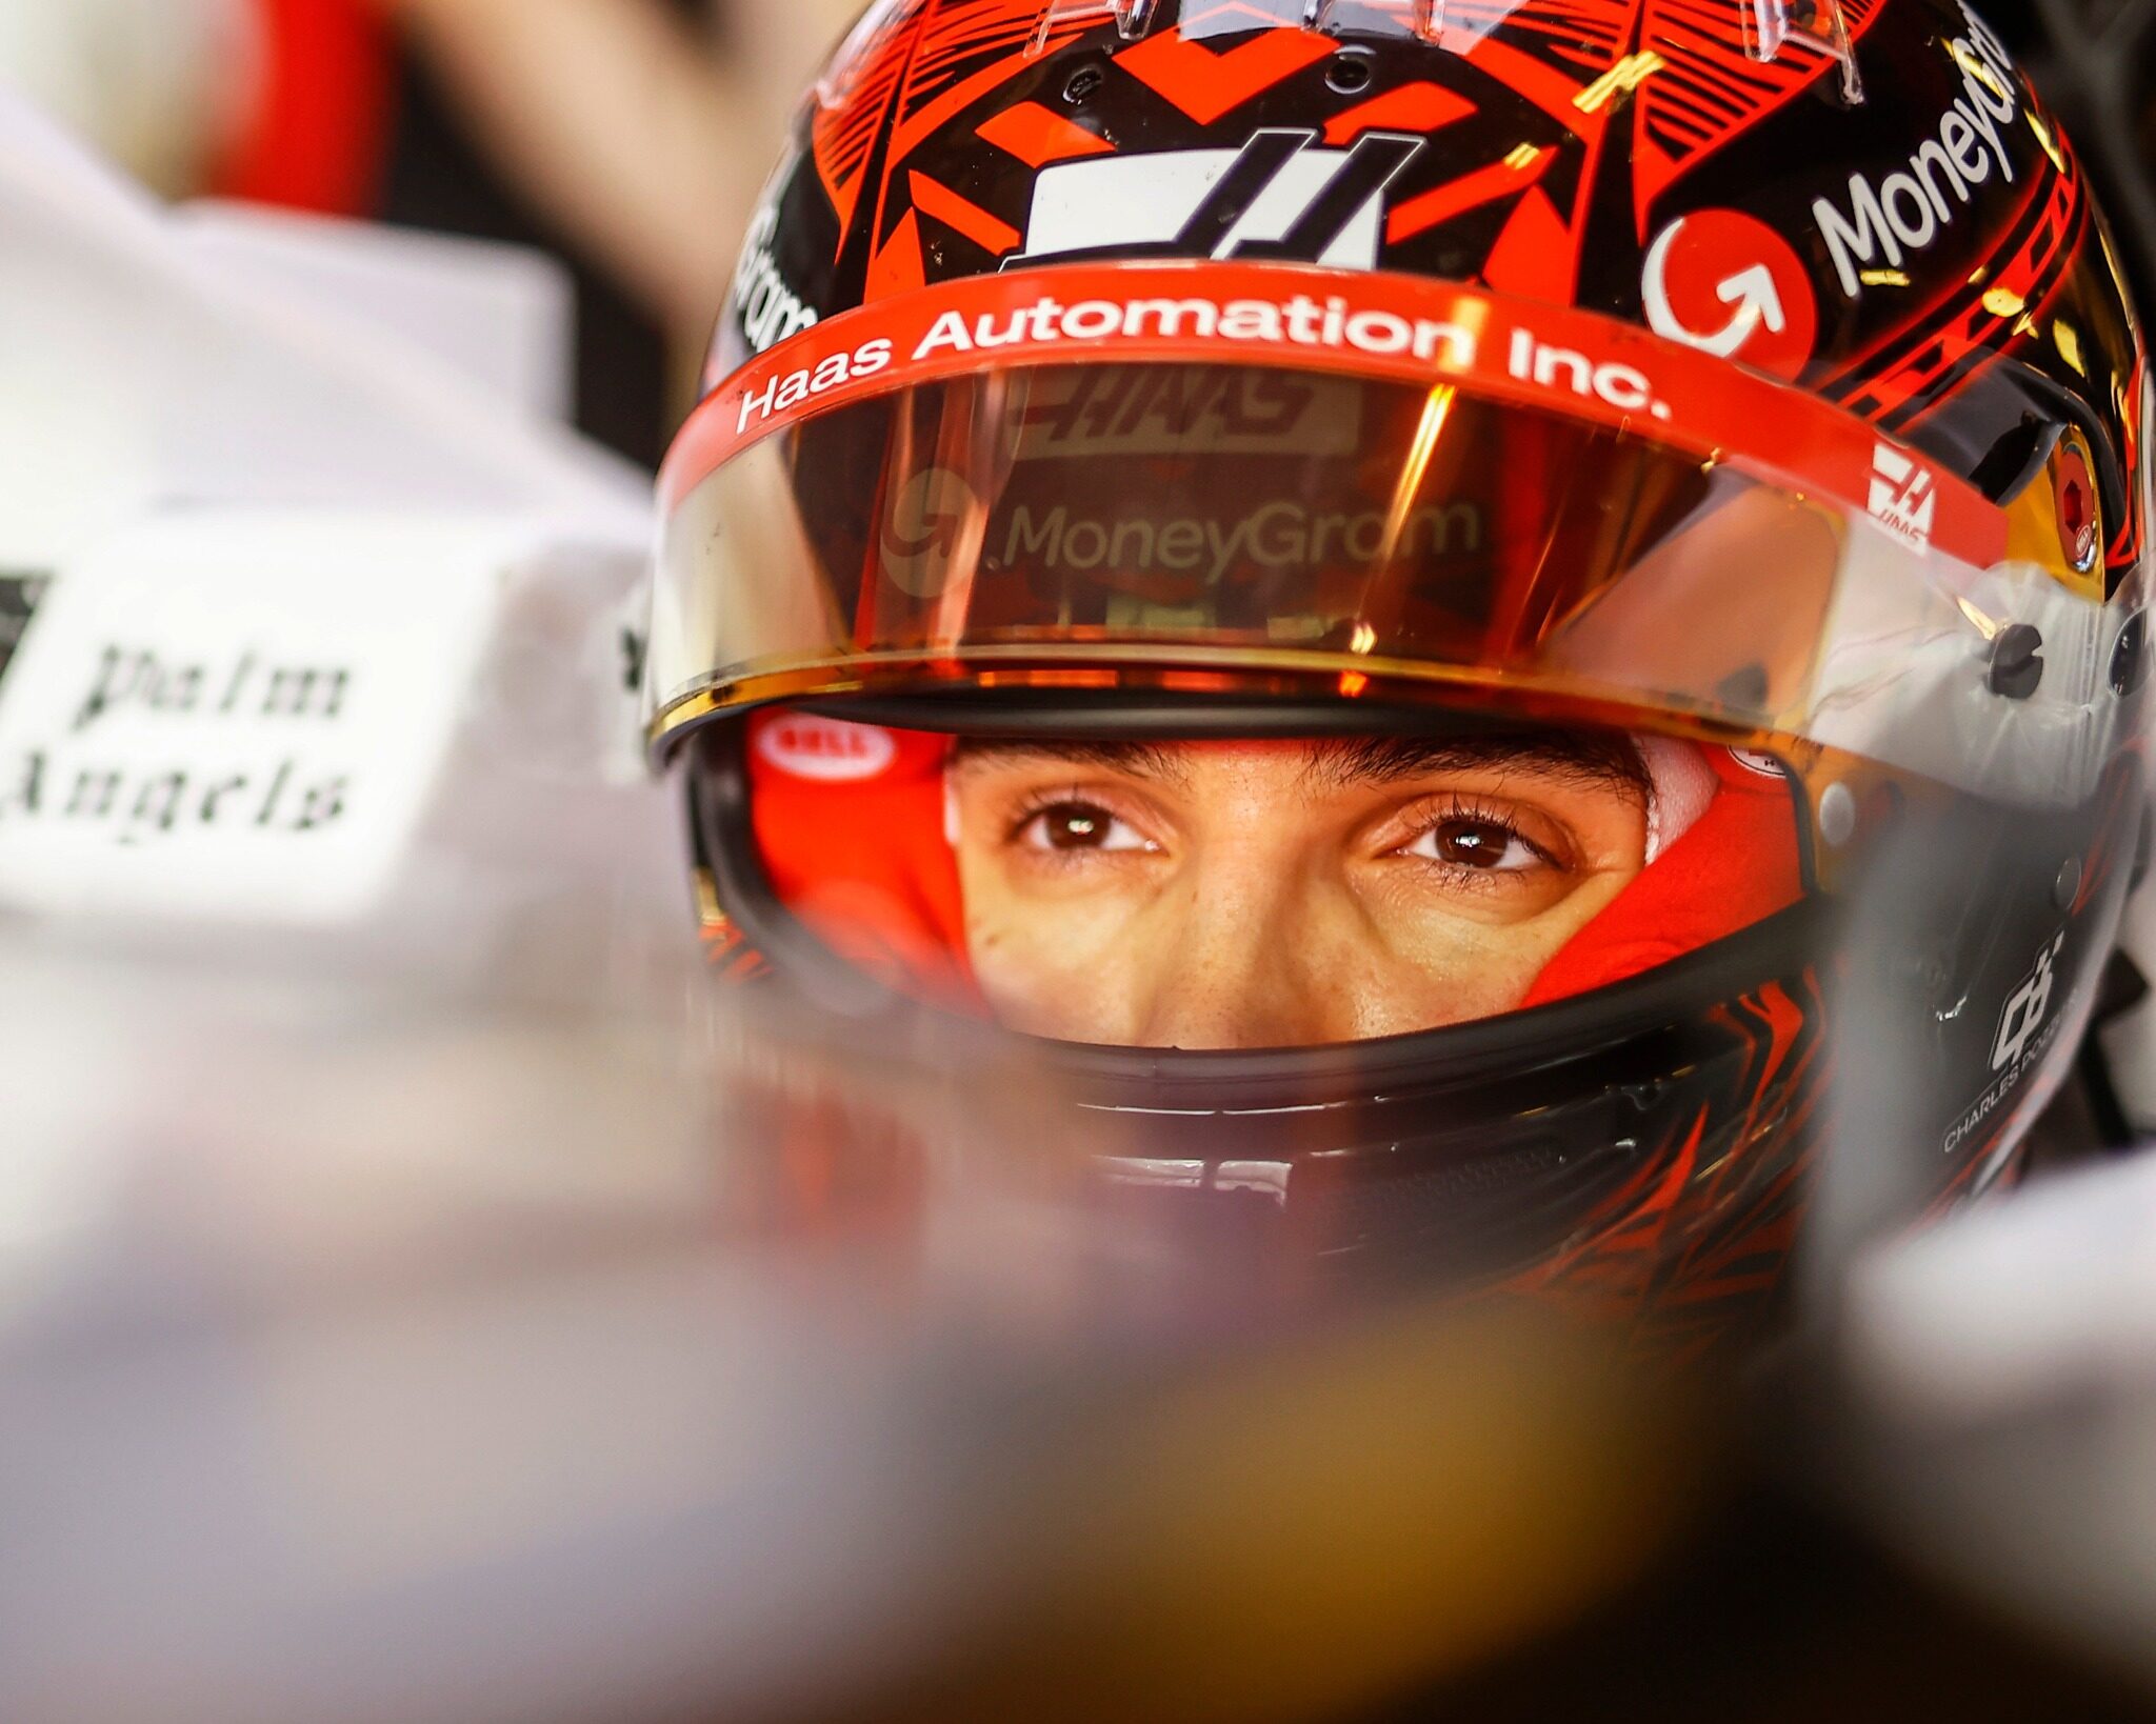
{"type": "Polygon", "coordinates": [[[2009,1621],[2156,1681],[2156,1155],[1871,1250],[1846,1317],[1861,1513],[2009,1621]]]}

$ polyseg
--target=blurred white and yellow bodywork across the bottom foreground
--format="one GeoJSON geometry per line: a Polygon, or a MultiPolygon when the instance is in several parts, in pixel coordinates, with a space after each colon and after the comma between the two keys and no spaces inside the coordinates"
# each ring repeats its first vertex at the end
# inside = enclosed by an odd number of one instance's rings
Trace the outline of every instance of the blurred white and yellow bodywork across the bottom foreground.
{"type": "Polygon", "coordinates": [[[1222,1282],[1031,1073],[4,957],[11,1724],[2147,1715],[1828,1396],[1222,1282]]]}

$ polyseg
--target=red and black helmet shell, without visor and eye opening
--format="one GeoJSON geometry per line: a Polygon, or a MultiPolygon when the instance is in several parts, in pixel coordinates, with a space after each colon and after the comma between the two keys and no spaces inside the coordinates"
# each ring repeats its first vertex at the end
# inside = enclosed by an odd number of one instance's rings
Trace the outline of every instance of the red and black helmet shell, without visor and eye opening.
{"type": "MultiPolygon", "coordinates": [[[[1774,1299],[1830,1134],[1906,1149],[1904,1213],[2012,1179],[2141,860],[2147,379],[2083,170],[1999,37],[1962,0],[886,0],[800,114],[709,381],[880,300],[1121,259],[1565,306],[1805,390],[1994,502],[2050,513],[2057,491],[2065,554],[2037,578],[2100,612],[2091,679],[2124,715],[2091,793],[2044,819],[1783,748],[1802,914],[1397,1043],[1076,1049],[1084,1103],[1164,1116],[1186,1187],[1276,1159],[1283,1215],[1328,1261],[1473,1259],[1453,1235],[1479,1194],[1492,1276],[1677,1349],[1774,1299]],[[1190,1123],[1212,1116],[1218,1142],[1190,1123]]],[[[2018,664],[1996,657],[1986,698],[2022,700],[2018,664]]],[[[1128,707],[1119,687],[1033,718],[1147,735],[1128,707]]],[[[806,965],[718,718],[690,750],[707,933],[740,974],[806,965]]]]}

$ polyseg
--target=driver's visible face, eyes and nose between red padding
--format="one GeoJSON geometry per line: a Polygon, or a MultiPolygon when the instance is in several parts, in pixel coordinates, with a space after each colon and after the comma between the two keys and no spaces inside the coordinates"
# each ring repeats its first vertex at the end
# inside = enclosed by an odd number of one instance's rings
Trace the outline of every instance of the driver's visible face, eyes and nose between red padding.
{"type": "Polygon", "coordinates": [[[966,944],[996,1015],[1136,1047],[1300,1047],[1516,1009],[1641,871],[1626,746],[966,743],[966,944]]]}

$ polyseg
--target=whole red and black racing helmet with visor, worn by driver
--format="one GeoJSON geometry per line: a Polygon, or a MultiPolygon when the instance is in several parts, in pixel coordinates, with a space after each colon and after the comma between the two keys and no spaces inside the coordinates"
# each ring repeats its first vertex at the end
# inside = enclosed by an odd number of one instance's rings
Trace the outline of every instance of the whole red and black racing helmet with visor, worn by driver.
{"type": "Polygon", "coordinates": [[[647,692],[733,974],[1658,1336],[1777,1287],[1852,1000],[1930,1194],[2014,1172],[2141,843],[2147,377],[1966,6],[877,4],[707,384],[647,692]]]}

